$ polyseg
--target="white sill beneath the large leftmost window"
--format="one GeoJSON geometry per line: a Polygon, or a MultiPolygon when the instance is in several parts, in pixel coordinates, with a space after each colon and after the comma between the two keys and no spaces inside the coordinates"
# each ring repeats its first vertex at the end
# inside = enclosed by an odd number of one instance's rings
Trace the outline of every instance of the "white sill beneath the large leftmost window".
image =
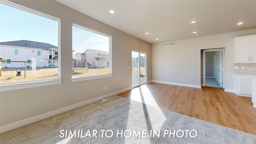
{"type": "Polygon", "coordinates": [[[42,81],[28,81],[22,83],[12,83],[12,84],[1,84],[0,92],[10,91],[10,90],[20,90],[24,88],[35,88],[39,86],[50,86],[54,84],[61,84],[62,80],[42,80],[42,81]]]}

